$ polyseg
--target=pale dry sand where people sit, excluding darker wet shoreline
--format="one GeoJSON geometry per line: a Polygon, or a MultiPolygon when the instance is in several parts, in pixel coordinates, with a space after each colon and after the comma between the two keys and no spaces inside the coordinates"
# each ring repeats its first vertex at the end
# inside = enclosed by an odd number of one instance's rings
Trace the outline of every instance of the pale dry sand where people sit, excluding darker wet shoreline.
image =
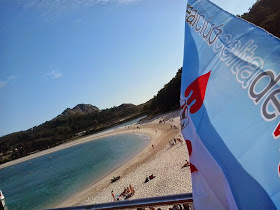
{"type": "Polygon", "coordinates": [[[135,189],[135,195],[131,199],[191,192],[190,171],[188,168],[181,168],[186,155],[184,145],[166,147],[119,181],[110,184],[95,196],[88,196],[79,204],[111,202],[113,201],[111,190],[118,195],[129,184],[135,189]],[[144,183],[146,175],[150,174],[154,174],[156,177],[144,183]]]}

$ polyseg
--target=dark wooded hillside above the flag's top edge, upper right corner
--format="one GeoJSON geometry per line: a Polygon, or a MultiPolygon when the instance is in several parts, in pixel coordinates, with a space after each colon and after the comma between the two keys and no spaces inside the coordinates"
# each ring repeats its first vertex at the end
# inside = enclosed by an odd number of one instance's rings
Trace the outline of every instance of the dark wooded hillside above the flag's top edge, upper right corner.
{"type": "Polygon", "coordinates": [[[241,17],[280,38],[279,0],[259,0],[241,17]]]}

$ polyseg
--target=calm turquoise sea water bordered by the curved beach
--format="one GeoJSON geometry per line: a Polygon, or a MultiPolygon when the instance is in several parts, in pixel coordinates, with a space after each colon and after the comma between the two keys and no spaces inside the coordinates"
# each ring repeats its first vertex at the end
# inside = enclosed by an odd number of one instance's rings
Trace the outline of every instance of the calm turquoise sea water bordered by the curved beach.
{"type": "Polygon", "coordinates": [[[54,208],[130,160],[148,143],[149,137],[143,134],[115,135],[0,169],[7,209],[54,208]]]}

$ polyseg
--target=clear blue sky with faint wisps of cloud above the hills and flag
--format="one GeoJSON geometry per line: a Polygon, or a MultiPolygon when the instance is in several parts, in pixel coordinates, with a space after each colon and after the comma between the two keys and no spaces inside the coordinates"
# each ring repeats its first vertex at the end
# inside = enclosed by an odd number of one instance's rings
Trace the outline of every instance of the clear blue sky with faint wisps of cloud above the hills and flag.
{"type": "MultiPolygon", "coordinates": [[[[213,0],[243,14],[255,0],[213,0]]],[[[183,63],[185,0],[0,0],[0,136],[145,103],[183,63]]]]}

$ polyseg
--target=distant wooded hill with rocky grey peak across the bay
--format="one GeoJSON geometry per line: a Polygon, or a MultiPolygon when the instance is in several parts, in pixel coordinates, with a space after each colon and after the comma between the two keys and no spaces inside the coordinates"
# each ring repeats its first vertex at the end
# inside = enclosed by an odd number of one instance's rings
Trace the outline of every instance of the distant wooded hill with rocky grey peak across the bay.
{"type": "Polygon", "coordinates": [[[143,115],[143,105],[122,104],[99,110],[90,104],[78,104],[39,126],[0,137],[0,163],[95,133],[140,115],[143,115]]]}

